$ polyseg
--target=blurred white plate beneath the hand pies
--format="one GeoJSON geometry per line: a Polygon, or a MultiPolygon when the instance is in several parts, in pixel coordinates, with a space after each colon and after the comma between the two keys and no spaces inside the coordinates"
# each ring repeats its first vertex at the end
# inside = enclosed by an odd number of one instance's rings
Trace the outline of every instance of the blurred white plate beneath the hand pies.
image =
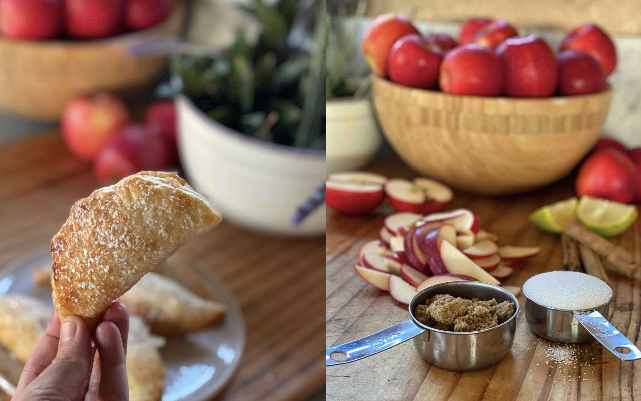
{"type": "MultiPolygon", "coordinates": [[[[184,257],[183,257],[184,258],[184,257]]],[[[221,325],[167,340],[161,350],[165,361],[165,391],[162,401],[203,401],[222,391],[238,367],[245,346],[245,325],[240,306],[221,278],[187,259],[203,277],[215,298],[228,307],[221,325]]],[[[49,248],[40,248],[0,269],[0,296],[18,293],[51,305],[51,288],[37,286],[31,271],[51,265],[49,248]]],[[[22,364],[12,361],[0,347],[0,373],[14,384],[22,364]]]]}

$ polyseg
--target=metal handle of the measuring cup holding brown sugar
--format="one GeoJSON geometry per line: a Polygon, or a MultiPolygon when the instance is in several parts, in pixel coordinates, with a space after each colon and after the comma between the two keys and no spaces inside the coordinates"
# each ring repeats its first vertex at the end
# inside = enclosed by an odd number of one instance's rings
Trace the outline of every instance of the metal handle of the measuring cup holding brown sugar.
{"type": "Polygon", "coordinates": [[[383,328],[383,330],[370,334],[369,336],[332,348],[326,348],[325,366],[358,361],[358,359],[369,357],[369,355],[374,355],[377,352],[399,345],[408,339],[418,336],[424,331],[424,328],[417,326],[411,319],[401,321],[401,323],[383,328]],[[338,361],[331,357],[332,354],[344,355],[345,359],[338,361]]]}

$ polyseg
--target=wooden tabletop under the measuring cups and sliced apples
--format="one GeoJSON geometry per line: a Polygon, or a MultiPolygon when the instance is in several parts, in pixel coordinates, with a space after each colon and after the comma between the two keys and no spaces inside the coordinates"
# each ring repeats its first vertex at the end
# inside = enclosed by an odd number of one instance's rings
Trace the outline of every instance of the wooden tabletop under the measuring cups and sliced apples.
{"type": "MultiPolygon", "coordinates": [[[[415,174],[395,157],[371,171],[389,177],[415,174]]],[[[570,176],[537,192],[490,198],[455,191],[448,209],[467,207],[481,226],[499,235],[499,244],[540,246],[534,259],[515,269],[504,284],[522,286],[533,275],[563,269],[560,237],[545,234],[529,223],[537,207],[573,196],[570,176]]],[[[326,234],[326,347],[353,341],[407,320],[406,305],[367,284],[354,272],[362,244],[378,238],[383,218],[392,213],[386,203],[373,216],[341,216],[328,209],[326,234]]],[[[640,257],[641,223],[614,241],[640,257]]],[[[614,296],[606,318],[637,346],[641,323],[641,281],[610,275],[614,296]]],[[[641,361],[621,362],[597,341],[579,346],[579,366],[556,364],[545,356],[554,343],[539,339],[526,324],[524,296],[510,354],[483,370],[448,371],[421,359],[407,341],[355,361],[326,368],[326,399],[333,401],[503,401],[503,400],[641,400],[641,361]],[[548,363],[546,363],[548,362],[548,363]],[[580,366],[583,364],[583,366],[580,366]],[[580,376],[580,378],[579,378],[580,376]]]]}

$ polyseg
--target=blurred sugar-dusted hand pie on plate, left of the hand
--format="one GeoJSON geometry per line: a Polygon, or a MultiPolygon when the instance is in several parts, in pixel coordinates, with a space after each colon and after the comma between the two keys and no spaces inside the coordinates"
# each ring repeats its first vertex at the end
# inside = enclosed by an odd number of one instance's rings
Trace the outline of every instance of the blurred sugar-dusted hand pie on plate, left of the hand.
{"type": "Polygon", "coordinates": [[[15,359],[26,363],[51,319],[51,309],[34,298],[7,295],[0,298],[0,344],[15,359]]]}

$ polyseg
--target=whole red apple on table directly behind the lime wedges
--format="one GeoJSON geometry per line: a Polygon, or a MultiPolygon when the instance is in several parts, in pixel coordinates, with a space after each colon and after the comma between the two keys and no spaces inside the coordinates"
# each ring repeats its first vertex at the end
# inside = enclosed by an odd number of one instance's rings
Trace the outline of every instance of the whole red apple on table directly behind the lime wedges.
{"type": "Polygon", "coordinates": [[[576,194],[630,203],[637,195],[637,166],[620,150],[602,149],[590,155],[576,176],[576,194]]]}

